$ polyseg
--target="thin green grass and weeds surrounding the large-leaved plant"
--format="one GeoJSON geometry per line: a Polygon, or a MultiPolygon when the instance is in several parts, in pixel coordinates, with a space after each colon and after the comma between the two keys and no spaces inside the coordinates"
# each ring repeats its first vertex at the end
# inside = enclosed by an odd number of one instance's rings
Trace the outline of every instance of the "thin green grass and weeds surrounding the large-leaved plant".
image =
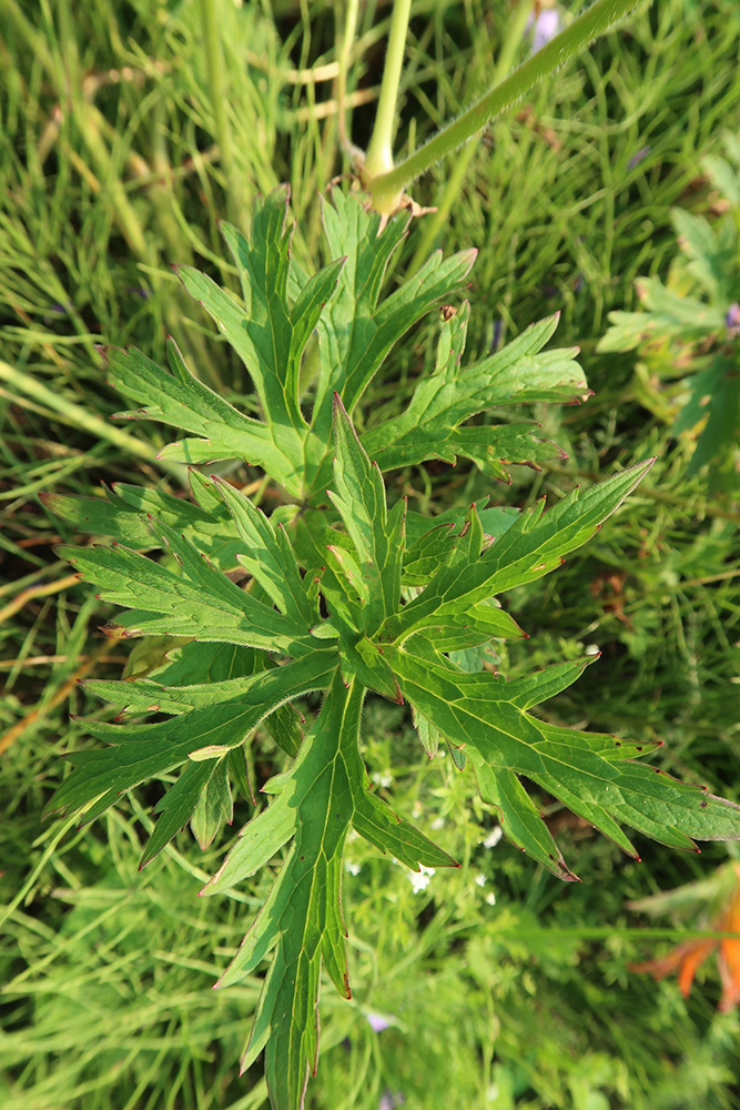
{"type": "MultiPolygon", "coordinates": [[[[39,10],[9,0],[0,14],[0,884],[9,907],[0,1093],[19,1110],[93,1110],[112,1098],[132,1110],[246,1110],[265,1104],[259,1067],[237,1078],[260,983],[207,988],[259,890],[242,904],[199,902],[222,849],[202,859],[189,834],[136,875],[155,794],[140,791],[82,834],[40,824],[64,774],[62,753],[88,743],[70,709],[101,713],[75,678],[89,665],[119,677],[125,652],[97,630],[109,613],[54,561],[52,544],[74,537],[38,495],[118,478],[181,488],[178,472],[162,477],[153,464],[163,442],[153,425],[109,423],[121,402],[97,343],[135,343],[161,360],[169,330],[203,380],[226,395],[249,390],[169,263],[233,282],[216,221],[244,223],[256,193],[282,180],[300,218],[296,256],[317,261],[316,193],[346,169],[331,69],[338,31],[325,4],[222,4],[227,167],[196,6],[99,0],[78,11],[58,0],[39,10]],[[321,67],[326,80],[315,79],[321,67]]],[[[481,0],[415,4],[399,149],[480,91],[506,10],[481,0]]],[[[358,142],[387,18],[385,6],[363,9],[347,89],[358,142]]],[[[690,451],[633,403],[629,359],[594,347],[606,313],[632,303],[633,278],[665,271],[668,209],[711,205],[698,163],[720,129],[740,125],[739,46],[728,0],[655,4],[491,129],[444,229],[446,253],[479,248],[470,353],[560,310],[558,343],[582,345],[597,390],[580,407],[535,414],[568,462],[520,472],[494,498],[555,500],[579,478],[660,458],[651,495],[640,491],[586,553],[511,596],[533,638],[504,655],[503,669],[597,645],[599,664],[546,707],[553,719],[665,739],[661,766],[730,797],[739,795],[737,515],[682,482],[690,451]]],[[[439,168],[418,199],[439,203],[448,183],[439,168]]],[[[423,224],[412,232],[398,273],[423,234],[423,224]]],[[[409,337],[373,402],[403,404],[434,336],[430,321],[409,337]]],[[[462,467],[399,472],[394,482],[430,513],[491,492],[462,467]]],[[[345,877],[356,996],[347,1006],[324,995],[310,1104],[375,1110],[387,1091],[412,1108],[740,1106],[737,1017],[716,1015],[713,973],[687,1005],[673,983],[626,970],[668,938],[637,937],[630,930],[643,921],[625,902],[706,875],[724,848],[693,858],[651,846],[640,867],[543,798],[585,880],[566,889],[505,845],[484,849],[480,823],[485,831],[493,815],[470,803],[470,776],[448,760],[427,764],[396,709],[376,702],[367,713],[371,771],[391,770],[399,811],[418,806],[429,825],[444,821],[432,835],[463,867],[416,895],[402,868],[357,846],[362,870],[345,877]],[[392,1018],[389,1028],[374,1032],[367,1012],[392,1018]]],[[[243,803],[236,820],[249,814],[243,803]]]]}

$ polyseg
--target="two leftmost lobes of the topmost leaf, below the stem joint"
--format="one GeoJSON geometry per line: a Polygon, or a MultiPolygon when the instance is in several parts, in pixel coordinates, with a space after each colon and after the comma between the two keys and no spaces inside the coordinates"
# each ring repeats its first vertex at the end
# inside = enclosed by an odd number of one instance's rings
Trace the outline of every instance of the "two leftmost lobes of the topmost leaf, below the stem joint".
{"type": "Polygon", "coordinates": [[[144,407],[120,417],[158,420],[192,433],[160,452],[172,462],[210,463],[241,458],[261,466],[293,496],[300,496],[306,460],[321,460],[325,441],[308,436],[300,406],[300,370],[306,343],[335,293],[343,259],[306,279],[291,305],[288,193],[275,190],[255,204],[250,242],[222,225],[234,256],[244,302],[190,266],[176,272],[187,292],[210,313],[244,362],[262,407],[262,418],[240,413],[186,367],[174,342],[171,373],[139,351],[107,352],[109,377],[125,396],[144,407]]]}

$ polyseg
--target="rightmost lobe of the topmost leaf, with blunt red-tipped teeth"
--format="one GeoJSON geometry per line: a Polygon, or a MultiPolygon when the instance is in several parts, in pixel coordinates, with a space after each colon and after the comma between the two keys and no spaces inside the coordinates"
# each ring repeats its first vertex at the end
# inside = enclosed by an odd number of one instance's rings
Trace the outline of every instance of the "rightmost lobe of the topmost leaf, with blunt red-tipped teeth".
{"type": "Polygon", "coordinates": [[[363,446],[382,471],[428,458],[454,463],[462,455],[484,473],[508,481],[506,463],[565,457],[554,443],[538,436],[539,425],[531,422],[460,427],[495,406],[567,403],[588,392],[574,359],[576,350],[541,352],[558,316],[534,324],[501,351],[462,370],[469,311],[466,301],[443,322],[435,372],[419,381],[407,408],[363,435],[363,446]]]}

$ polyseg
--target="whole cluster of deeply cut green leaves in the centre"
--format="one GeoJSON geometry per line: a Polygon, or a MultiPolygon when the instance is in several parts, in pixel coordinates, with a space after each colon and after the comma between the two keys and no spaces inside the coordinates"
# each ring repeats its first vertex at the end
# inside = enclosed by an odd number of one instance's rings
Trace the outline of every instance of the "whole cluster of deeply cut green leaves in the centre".
{"type": "Polygon", "coordinates": [[[191,464],[191,497],[118,485],[103,498],[48,498],[80,531],[112,539],[60,554],[124,610],[116,630],[179,638],[142,677],[87,684],[121,713],[114,723],[89,723],[105,746],[72,753],[72,774],[49,810],[80,810],[91,821],[125,791],[178,771],[155,806],[142,866],[189,821],[199,842],[210,844],[231,820],[232,785],[251,795],[245,745],[257,727],[270,733],[286,769],[264,785],[270,800],[202,894],[227,894],[280,860],[219,986],[270,959],[243,1067],[264,1049],[273,1104],[295,1110],[316,1066],[322,971],[349,997],[347,834],[412,869],[455,866],[374,793],[361,736],[368,693],[409,704],[428,754],[446,740],[458,766],[469,760],[506,836],[566,880],[576,877],[523,776],[631,855],[624,826],[691,848],[692,837],[737,838],[740,813],[636,761],[645,746],[533,713],[591,659],[509,682],[463,665],[491,640],[525,635],[500,596],[587,543],[651,461],[576,488],[547,511],[543,502],[523,512],[473,505],[425,519],[403,498],[388,503],[383,472],[393,467],[463,456],[506,478],[511,463],[536,465],[557,454],[537,424],[507,418],[515,404],[572,402],[586,391],[575,352],[543,351],[556,321],[463,370],[468,309],[445,313],[433,373],[403,414],[379,415],[358,434],[351,413],[386,355],[462,289],[474,255],[435,254],[383,297],[408,218],[381,229],[356,198],[335,193],[324,220],[336,261],[307,278],[291,260],[286,204],[284,191],[261,202],[251,240],[224,228],[241,301],[195,271],[180,271],[244,360],[260,416],[199,382],[174,344],[169,373],[140,352],[112,351],[112,381],[144,406],[126,415],[187,433],[161,456],[191,464]],[[303,359],[316,331],[320,370],[306,386],[303,359]],[[489,414],[485,423],[467,423],[481,413],[489,414]],[[284,503],[266,515],[223,476],[196,468],[221,460],[259,465],[282,487],[284,503]],[[293,704],[307,696],[321,707],[306,725],[293,704]],[[153,713],[154,723],[138,719],[153,713]]]}

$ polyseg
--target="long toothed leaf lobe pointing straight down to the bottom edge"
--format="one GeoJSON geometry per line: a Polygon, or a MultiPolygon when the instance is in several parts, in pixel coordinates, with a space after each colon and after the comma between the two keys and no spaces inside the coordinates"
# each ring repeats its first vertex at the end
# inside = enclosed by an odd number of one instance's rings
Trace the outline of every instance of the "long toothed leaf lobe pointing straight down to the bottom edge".
{"type": "Polygon", "coordinates": [[[303,1106],[318,1050],[318,988],[322,965],[345,998],[346,928],[342,916],[342,849],[352,825],[382,850],[418,869],[453,865],[430,840],[393,816],[367,789],[359,756],[364,689],[336,676],[316,725],[276,799],[243,830],[203,894],[217,894],[254,874],[293,838],[275,885],[230,968],[219,981],[239,981],[274,948],[242,1068],[266,1048],[265,1070],[273,1106],[303,1106]]]}

